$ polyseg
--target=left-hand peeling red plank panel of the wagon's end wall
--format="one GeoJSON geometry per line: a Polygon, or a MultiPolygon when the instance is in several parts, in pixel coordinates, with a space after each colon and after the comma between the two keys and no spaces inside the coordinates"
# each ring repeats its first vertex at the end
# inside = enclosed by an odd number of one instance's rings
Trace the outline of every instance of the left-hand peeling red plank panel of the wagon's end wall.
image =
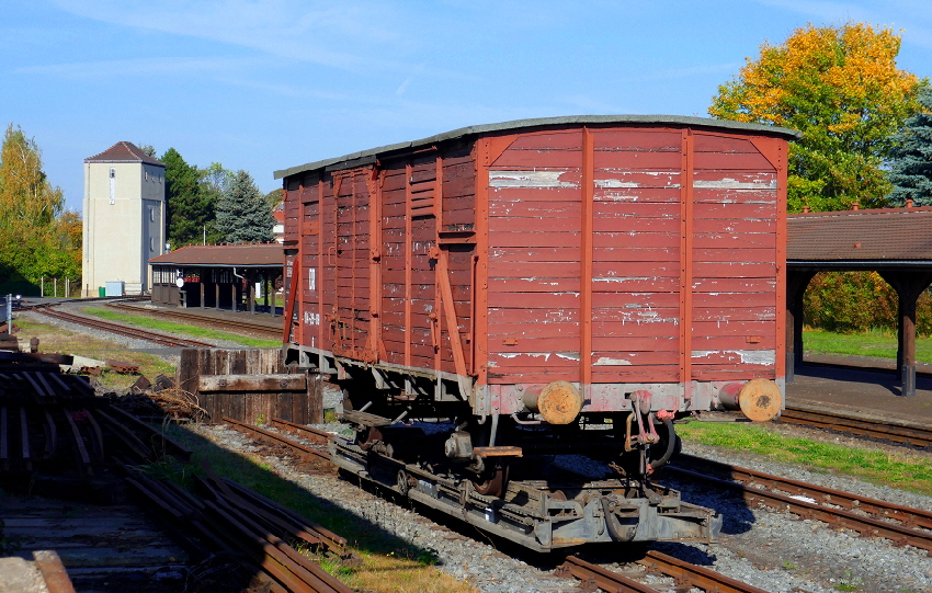
{"type": "Polygon", "coordinates": [[[518,136],[489,166],[489,384],[580,380],[582,134],[518,136]]]}

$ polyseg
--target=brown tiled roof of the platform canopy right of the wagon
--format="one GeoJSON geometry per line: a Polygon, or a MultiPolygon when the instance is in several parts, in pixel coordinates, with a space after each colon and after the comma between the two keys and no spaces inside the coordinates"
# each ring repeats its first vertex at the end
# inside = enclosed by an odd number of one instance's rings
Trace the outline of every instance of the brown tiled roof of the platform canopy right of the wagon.
{"type": "Polygon", "coordinates": [[[932,207],[791,214],[794,262],[918,261],[932,265],[932,207]]]}

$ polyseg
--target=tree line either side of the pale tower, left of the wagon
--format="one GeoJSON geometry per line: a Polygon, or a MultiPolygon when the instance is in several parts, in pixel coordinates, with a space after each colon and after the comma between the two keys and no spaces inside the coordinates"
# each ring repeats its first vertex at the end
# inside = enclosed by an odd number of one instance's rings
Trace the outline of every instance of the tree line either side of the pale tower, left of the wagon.
{"type": "MultiPolygon", "coordinates": [[[[151,146],[143,150],[158,158],[151,146]]],[[[173,248],[273,239],[281,190],[262,194],[247,171],[217,162],[200,169],[174,148],[159,160],[166,164],[166,230],[173,248]]],[[[0,293],[37,294],[44,277],[80,280],[81,225],[43,171],[38,144],[10,124],[0,148],[0,293]]]]}

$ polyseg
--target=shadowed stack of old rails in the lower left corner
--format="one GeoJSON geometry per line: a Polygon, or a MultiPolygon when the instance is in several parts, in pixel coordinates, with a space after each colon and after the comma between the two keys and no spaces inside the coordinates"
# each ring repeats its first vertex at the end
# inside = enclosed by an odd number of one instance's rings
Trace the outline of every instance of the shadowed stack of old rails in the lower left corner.
{"type": "MultiPolygon", "coordinates": [[[[125,502],[122,492],[124,484],[128,484],[129,491],[145,501],[137,513],[141,514],[145,509],[160,514],[190,558],[211,562],[235,555],[235,562],[221,566],[223,571],[229,573],[224,575],[226,581],[236,585],[229,590],[351,593],[350,588],[328,574],[314,558],[298,551],[306,549],[331,559],[343,558],[346,546],[343,537],[232,480],[219,478],[206,464],[203,464],[206,477],[192,477],[192,490],[152,477],[147,470],[148,464],[164,461],[168,455],[189,461],[192,452],[116,408],[110,400],[94,397],[87,381],[62,375],[57,365],[37,362],[27,355],[11,355],[0,363],[0,380],[3,381],[0,390],[0,482],[4,489],[57,497],[64,487],[72,498],[113,504],[125,502]],[[260,589],[252,589],[253,582],[259,583],[260,589]]],[[[53,537],[50,532],[41,531],[49,528],[48,522],[36,522],[29,511],[12,518],[4,513],[4,518],[9,522],[7,527],[30,546],[53,537]]],[[[130,520],[127,515],[123,521],[130,520]]],[[[113,539],[123,545],[130,537],[103,531],[98,515],[68,517],[68,521],[70,523],[60,528],[77,534],[75,537],[81,538],[78,547],[89,550],[112,546],[113,539]],[[87,531],[82,531],[84,523],[87,531]],[[101,534],[111,539],[102,539],[101,534]]],[[[53,525],[52,528],[59,527],[53,525]]],[[[141,538],[143,535],[132,537],[141,538]]],[[[159,544],[146,541],[159,547],[159,544]]],[[[76,545],[69,543],[67,549],[73,552],[76,545]]],[[[73,552],[69,559],[76,562],[72,568],[79,571],[78,579],[89,579],[87,571],[80,569],[91,566],[104,574],[99,579],[118,581],[125,567],[151,568],[146,563],[147,558],[139,560],[133,556],[133,548],[132,545],[127,547],[126,559],[118,556],[123,554],[118,549],[101,552],[103,561],[118,558],[116,568],[100,565],[93,551],[73,552]],[[91,563],[81,563],[88,562],[87,559],[91,563]]],[[[191,569],[191,582],[214,579],[198,572],[200,563],[187,565],[187,559],[178,563],[191,569]]],[[[53,568],[58,581],[70,586],[61,562],[53,568]]],[[[198,590],[214,589],[208,584],[207,589],[198,590]]],[[[65,593],[73,589],[54,591],[65,593]]]]}

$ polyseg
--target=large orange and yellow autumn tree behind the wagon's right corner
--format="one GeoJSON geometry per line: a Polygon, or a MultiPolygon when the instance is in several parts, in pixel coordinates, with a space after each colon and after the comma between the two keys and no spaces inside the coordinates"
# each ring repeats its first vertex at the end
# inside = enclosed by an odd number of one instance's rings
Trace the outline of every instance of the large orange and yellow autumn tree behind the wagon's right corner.
{"type": "Polygon", "coordinates": [[[764,43],[708,112],[803,133],[789,147],[789,212],[884,206],[891,186],[882,166],[927,82],[897,68],[899,48],[889,28],[810,24],[764,43]]]}

